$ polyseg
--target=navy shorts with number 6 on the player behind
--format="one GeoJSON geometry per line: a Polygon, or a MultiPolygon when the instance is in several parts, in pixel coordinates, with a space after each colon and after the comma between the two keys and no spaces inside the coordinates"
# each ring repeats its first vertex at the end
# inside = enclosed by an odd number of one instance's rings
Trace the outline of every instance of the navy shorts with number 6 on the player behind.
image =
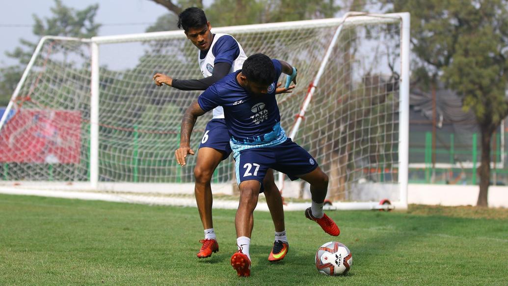
{"type": "Polygon", "coordinates": [[[206,125],[205,133],[203,134],[203,138],[201,138],[199,148],[209,147],[223,152],[223,160],[225,160],[232,152],[229,144],[230,139],[231,137],[226,127],[226,120],[224,118],[212,119],[206,125]]]}

